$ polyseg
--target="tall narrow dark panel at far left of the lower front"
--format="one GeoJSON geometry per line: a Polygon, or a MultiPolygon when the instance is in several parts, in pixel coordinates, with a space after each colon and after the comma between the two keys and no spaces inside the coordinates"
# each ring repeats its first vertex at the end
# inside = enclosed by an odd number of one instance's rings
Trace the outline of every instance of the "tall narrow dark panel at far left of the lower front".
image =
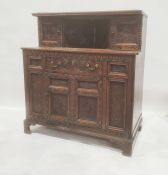
{"type": "Polygon", "coordinates": [[[46,114],[45,82],[40,71],[29,72],[29,107],[30,117],[44,118],[46,114]]]}

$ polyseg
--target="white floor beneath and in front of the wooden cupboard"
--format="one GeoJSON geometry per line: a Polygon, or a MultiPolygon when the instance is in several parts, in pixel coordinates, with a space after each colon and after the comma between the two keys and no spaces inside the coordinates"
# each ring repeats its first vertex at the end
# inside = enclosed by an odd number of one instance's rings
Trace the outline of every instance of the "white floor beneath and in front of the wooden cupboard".
{"type": "Polygon", "coordinates": [[[131,158],[102,140],[33,126],[24,111],[0,110],[0,175],[167,175],[168,116],[144,114],[131,158]]]}

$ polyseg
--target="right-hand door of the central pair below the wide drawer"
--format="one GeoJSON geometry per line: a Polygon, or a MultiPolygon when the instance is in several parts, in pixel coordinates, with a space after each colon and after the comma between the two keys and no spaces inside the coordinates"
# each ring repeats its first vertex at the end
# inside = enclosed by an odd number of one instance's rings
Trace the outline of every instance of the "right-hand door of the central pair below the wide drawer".
{"type": "Polygon", "coordinates": [[[101,78],[77,77],[76,121],[82,126],[101,126],[102,80],[101,78]]]}

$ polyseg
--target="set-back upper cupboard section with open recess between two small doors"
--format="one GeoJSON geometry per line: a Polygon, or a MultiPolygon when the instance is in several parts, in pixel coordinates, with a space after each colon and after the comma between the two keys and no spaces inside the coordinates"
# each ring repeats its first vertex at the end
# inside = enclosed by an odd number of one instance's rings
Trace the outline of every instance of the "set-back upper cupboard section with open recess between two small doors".
{"type": "Polygon", "coordinates": [[[141,50],[143,13],[56,13],[38,16],[39,45],[141,50]]]}

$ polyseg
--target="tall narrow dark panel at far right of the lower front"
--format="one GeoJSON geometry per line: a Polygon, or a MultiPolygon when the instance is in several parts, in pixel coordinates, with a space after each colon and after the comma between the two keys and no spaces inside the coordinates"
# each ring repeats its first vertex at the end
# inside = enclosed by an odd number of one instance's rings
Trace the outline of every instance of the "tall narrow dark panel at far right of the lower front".
{"type": "Polygon", "coordinates": [[[111,131],[123,133],[127,128],[128,82],[126,78],[108,78],[107,82],[106,126],[111,131]]]}

